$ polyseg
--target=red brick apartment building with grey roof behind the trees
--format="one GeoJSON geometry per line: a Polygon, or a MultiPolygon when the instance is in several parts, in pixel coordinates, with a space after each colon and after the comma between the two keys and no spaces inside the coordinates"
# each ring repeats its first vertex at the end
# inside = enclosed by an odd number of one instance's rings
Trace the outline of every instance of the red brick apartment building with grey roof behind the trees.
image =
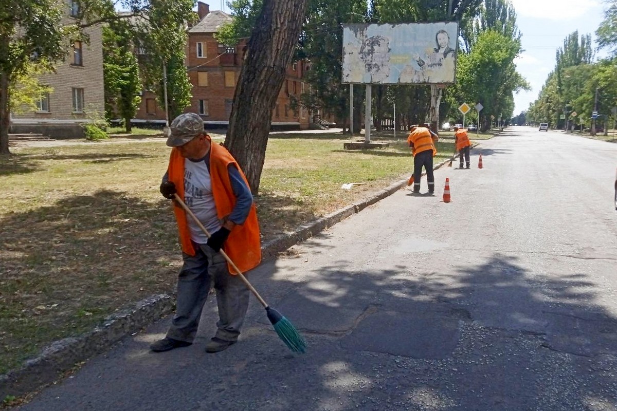
{"type": "MultiPolygon", "coordinates": [[[[231,21],[231,15],[220,10],[211,12],[208,4],[201,1],[197,2],[197,14],[199,22],[188,29],[186,68],[193,84],[193,97],[185,112],[199,113],[206,128],[226,128],[242,67],[244,42],[236,46],[225,46],[214,38],[220,26],[231,21]]],[[[311,115],[308,110],[304,107],[297,110],[291,108],[292,97],[299,99],[304,92],[305,83],[302,78],[306,67],[304,61],[289,65],[272,113],[272,129],[309,128],[311,115]]],[[[154,93],[144,91],[141,106],[133,121],[135,124],[165,123],[165,110],[157,105],[154,93]]]]}

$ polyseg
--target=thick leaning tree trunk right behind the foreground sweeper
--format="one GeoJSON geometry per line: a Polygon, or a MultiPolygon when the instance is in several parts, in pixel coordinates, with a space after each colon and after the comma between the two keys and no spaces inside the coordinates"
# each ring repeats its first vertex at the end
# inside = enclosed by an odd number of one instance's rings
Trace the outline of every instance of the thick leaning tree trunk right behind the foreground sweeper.
{"type": "Polygon", "coordinates": [[[244,54],[225,147],[254,194],[265,161],[272,110],[298,43],[307,0],[264,0],[244,54]]]}

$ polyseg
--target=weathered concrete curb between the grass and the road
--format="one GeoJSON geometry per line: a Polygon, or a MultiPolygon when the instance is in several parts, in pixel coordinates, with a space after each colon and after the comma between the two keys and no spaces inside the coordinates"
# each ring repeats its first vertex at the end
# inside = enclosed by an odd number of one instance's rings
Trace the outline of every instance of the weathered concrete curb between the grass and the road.
{"type": "MultiPolygon", "coordinates": [[[[442,161],[434,169],[448,163],[442,161]]],[[[424,175],[424,174],[423,174],[424,175]]],[[[334,226],[337,222],[359,213],[366,207],[389,197],[407,186],[407,180],[400,180],[373,193],[365,200],[334,211],[316,221],[298,227],[290,234],[270,240],[262,245],[262,259],[273,258],[299,242],[334,226]]],[[[0,399],[6,396],[20,397],[31,393],[60,378],[63,372],[75,367],[78,362],[101,354],[126,335],[130,335],[173,312],[175,301],[171,295],[152,295],[136,303],[133,307],[107,317],[103,324],[91,332],[55,341],[41,351],[39,356],[27,360],[21,368],[0,375],[0,399]]]]}

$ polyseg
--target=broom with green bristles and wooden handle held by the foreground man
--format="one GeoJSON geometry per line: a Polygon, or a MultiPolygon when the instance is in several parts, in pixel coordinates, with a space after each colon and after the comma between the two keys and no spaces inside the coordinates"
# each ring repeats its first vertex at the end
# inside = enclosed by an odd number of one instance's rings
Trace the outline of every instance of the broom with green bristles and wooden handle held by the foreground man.
{"type": "MultiPolygon", "coordinates": [[[[186,211],[186,213],[189,214],[189,216],[191,216],[191,218],[195,221],[197,226],[201,228],[204,234],[207,235],[208,238],[210,238],[210,232],[204,227],[203,224],[201,224],[201,221],[199,221],[197,216],[193,214],[193,211],[191,211],[191,209],[188,208],[184,201],[182,201],[180,196],[178,194],[174,194],[174,197],[178,204],[180,204],[182,208],[184,208],[184,211],[186,211]]],[[[244,285],[246,285],[246,287],[251,290],[251,292],[259,300],[259,302],[262,303],[262,306],[266,309],[266,315],[268,316],[268,320],[270,320],[279,338],[283,340],[283,342],[286,344],[286,346],[288,346],[289,349],[291,349],[291,351],[306,352],[307,343],[304,338],[302,338],[302,335],[300,335],[300,333],[296,330],[296,327],[294,327],[294,325],[291,324],[291,322],[289,322],[289,320],[286,319],[283,314],[268,306],[262,296],[260,296],[257,290],[255,290],[251,283],[249,283],[249,280],[244,277],[244,274],[242,274],[238,266],[236,266],[236,264],[231,261],[225,251],[221,249],[219,252],[223,255],[223,257],[225,257],[230,266],[233,267],[234,271],[236,271],[236,274],[238,274],[242,282],[244,282],[244,285]]]]}

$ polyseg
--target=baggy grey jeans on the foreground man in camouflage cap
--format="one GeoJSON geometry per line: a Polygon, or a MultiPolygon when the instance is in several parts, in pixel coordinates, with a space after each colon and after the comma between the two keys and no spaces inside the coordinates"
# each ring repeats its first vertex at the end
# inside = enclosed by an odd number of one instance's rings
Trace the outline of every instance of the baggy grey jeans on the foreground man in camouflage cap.
{"type": "Polygon", "coordinates": [[[249,307],[250,291],[238,275],[230,274],[222,254],[205,244],[194,245],[195,256],[182,254],[184,264],[178,274],[176,315],[167,336],[193,342],[210,286],[214,283],[218,305],[215,336],[236,341],[249,307]]]}

